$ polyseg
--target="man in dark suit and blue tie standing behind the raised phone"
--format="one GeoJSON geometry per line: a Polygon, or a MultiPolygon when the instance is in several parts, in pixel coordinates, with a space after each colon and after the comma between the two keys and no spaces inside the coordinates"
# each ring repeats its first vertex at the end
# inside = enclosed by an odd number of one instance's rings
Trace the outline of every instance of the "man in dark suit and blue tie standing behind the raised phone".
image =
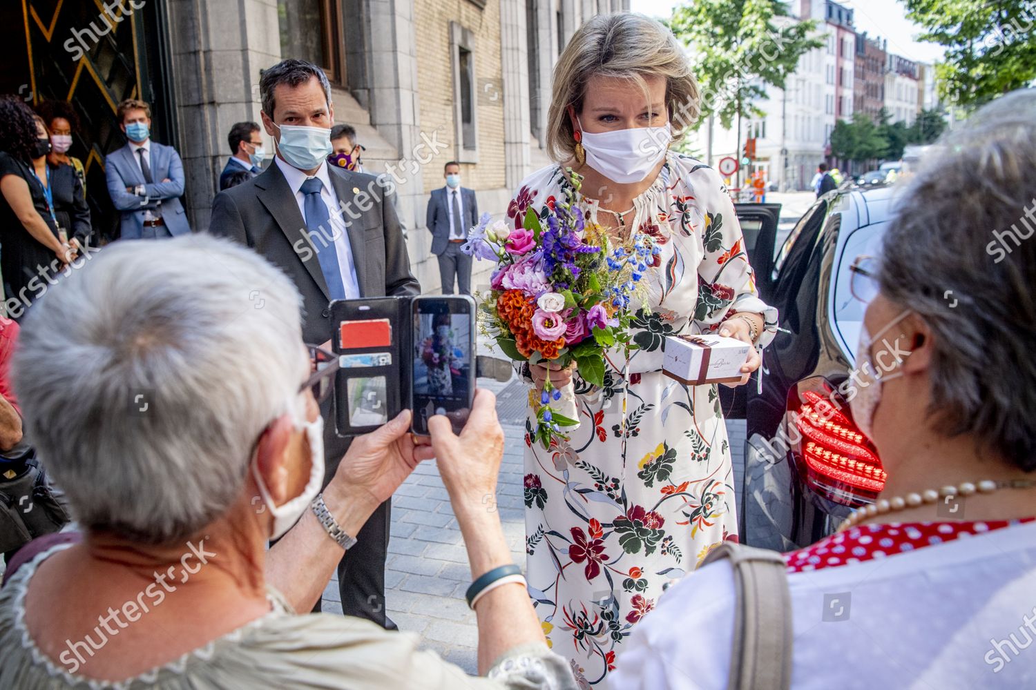
{"type": "MultiPolygon", "coordinates": [[[[335,111],[323,71],[284,60],[263,71],[260,90],[262,122],[277,156],[262,175],[217,194],[209,232],[254,247],[287,273],[303,296],[303,337],[326,347],[329,300],[416,295],[420,286],[377,178],[327,164],[335,111]]],[[[255,290],[261,294],[262,287],[255,290]]],[[[321,413],[327,420],[326,485],[349,444],[335,433],[329,400],[321,413]]],[[[386,501],[359,534],[350,535],[358,541],[338,574],[343,613],[395,627],[384,607],[388,511],[386,501]]],[[[340,546],[328,537],[327,548],[340,546]]]]}

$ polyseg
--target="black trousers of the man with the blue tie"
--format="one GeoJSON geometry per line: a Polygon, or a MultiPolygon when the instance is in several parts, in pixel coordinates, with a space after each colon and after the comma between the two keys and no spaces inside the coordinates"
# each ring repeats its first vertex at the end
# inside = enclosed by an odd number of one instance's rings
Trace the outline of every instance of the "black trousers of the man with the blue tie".
{"type": "MultiPolygon", "coordinates": [[[[339,439],[335,433],[335,416],[330,400],[320,406],[324,418],[324,486],[338,471],[351,439],[339,439]]],[[[359,530],[356,544],[345,552],[338,564],[338,587],[342,595],[342,613],[357,616],[377,623],[387,630],[397,630],[385,612],[385,560],[388,556],[388,529],[392,524],[392,499],[385,501],[359,530]]],[[[327,538],[326,548],[341,550],[327,538]]],[[[299,573],[305,577],[305,573],[299,573]]],[[[320,612],[318,599],[313,612],[320,612]]]]}

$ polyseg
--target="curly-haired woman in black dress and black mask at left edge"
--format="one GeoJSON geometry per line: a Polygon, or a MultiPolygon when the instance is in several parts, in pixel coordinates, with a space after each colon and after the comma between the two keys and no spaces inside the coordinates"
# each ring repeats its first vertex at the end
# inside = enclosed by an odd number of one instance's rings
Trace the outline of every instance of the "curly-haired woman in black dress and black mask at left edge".
{"type": "Polygon", "coordinates": [[[0,97],[0,267],[7,316],[15,320],[46,292],[47,278],[53,280],[76,256],[58,239],[49,202],[50,148],[47,128],[32,109],[18,96],[0,97]]]}

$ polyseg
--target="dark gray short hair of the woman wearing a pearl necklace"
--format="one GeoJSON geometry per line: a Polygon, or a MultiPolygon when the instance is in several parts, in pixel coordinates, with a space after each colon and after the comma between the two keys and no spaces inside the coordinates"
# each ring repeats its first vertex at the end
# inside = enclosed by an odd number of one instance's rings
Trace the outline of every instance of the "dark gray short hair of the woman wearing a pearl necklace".
{"type": "Polygon", "coordinates": [[[948,132],[905,181],[879,278],[936,335],[940,430],[974,434],[1025,471],[1036,469],[1034,171],[1036,90],[1027,89],[948,132]]]}

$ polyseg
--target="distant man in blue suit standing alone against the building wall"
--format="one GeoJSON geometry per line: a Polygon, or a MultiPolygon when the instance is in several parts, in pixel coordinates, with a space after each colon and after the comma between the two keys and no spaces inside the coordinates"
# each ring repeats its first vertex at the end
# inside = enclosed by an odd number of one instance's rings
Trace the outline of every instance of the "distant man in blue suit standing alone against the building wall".
{"type": "Polygon", "coordinates": [[[454,276],[462,295],[471,294],[471,258],[460,250],[467,232],[479,224],[474,190],[460,186],[460,163],[451,160],[442,177],[447,186],[432,189],[425,224],[432,233],[432,253],[439,259],[442,294],[454,294],[454,276]]]}

